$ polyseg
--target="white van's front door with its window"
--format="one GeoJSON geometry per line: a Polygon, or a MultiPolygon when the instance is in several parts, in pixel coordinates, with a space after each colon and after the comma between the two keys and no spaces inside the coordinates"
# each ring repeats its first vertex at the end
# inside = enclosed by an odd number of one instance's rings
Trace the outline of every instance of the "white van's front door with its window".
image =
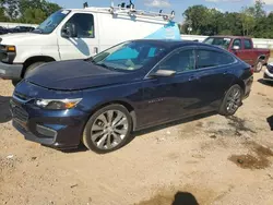
{"type": "Polygon", "coordinates": [[[96,35],[96,14],[74,13],[62,26],[73,24],[76,37],[58,35],[59,52],[61,60],[86,59],[98,51],[98,35],[96,35]]]}

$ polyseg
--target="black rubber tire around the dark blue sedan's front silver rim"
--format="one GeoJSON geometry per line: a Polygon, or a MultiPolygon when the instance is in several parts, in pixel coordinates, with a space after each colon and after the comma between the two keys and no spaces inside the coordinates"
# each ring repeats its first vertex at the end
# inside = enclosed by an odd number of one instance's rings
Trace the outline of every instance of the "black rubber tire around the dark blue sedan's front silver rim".
{"type": "MultiPolygon", "coordinates": [[[[107,112],[107,114],[108,114],[108,112],[107,112]]],[[[114,118],[115,116],[112,116],[111,117],[111,119],[115,121],[115,118],[114,118]]],[[[108,118],[108,116],[107,116],[107,118],[108,118]]],[[[122,121],[122,120],[120,120],[120,121],[122,121]]],[[[112,124],[114,124],[114,122],[112,122],[112,124]]],[[[86,125],[85,125],[85,129],[84,129],[84,132],[83,132],[83,137],[82,137],[82,142],[83,142],[83,144],[88,148],[88,149],[91,149],[91,150],[93,150],[93,152],[95,152],[95,153],[97,153],[97,154],[106,154],[106,153],[110,153],[110,152],[114,152],[114,150],[117,150],[117,149],[119,149],[119,148],[121,148],[122,146],[124,146],[127,143],[129,143],[130,142],[130,135],[131,135],[131,131],[132,131],[132,118],[131,118],[131,116],[130,116],[130,113],[129,113],[129,111],[123,107],[123,106],[121,106],[121,105],[116,105],[116,104],[114,104],[114,105],[109,105],[109,106],[106,106],[106,107],[104,107],[104,108],[102,108],[102,109],[99,109],[99,110],[97,110],[91,118],[90,118],[90,120],[87,121],[87,123],[86,123],[86,125]],[[95,142],[93,142],[93,140],[92,140],[92,135],[93,136],[95,136],[95,134],[92,134],[92,133],[94,133],[95,131],[93,131],[92,130],[92,128],[93,128],[93,125],[97,125],[96,124],[96,122],[97,122],[97,120],[99,120],[98,118],[102,116],[102,114],[105,114],[107,111],[112,111],[112,110],[115,110],[115,111],[117,111],[117,112],[121,112],[121,113],[123,113],[123,117],[126,117],[127,118],[127,122],[128,122],[128,125],[127,125],[127,133],[124,134],[124,135],[122,135],[122,140],[120,140],[120,143],[119,144],[117,144],[116,146],[114,146],[114,147],[110,147],[110,148],[106,148],[106,147],[103,147],[103,148],[99,148],[98,147],[98,144],[95,144],[95,142]]],[[[105,128],[105,124],[104,125],[99,125],[100,128],[105,128]]],[[[105,129],[102,129],[102,132],[105,132],[105,129]]],[[[115,132],[114,130],[111,131],[111,132],[115,132]]],[[[117,133],[116,133],[117,134],[117,133]]],[[[98,140],[98,142],[104,137],[103,136],[104,134],[102,134],[100,136],[102,137],[97,137],[98,140]]],[[[112,141],[112,143],[114,143],[114,135],[109,135],[109,133],[108,133],[108,135],[107,135],[107,138],[106,140],[104,140],[103,142],[103,144],[105,144],[104,146],[107,146],[106,145],[106,141],[108,141],[108,137],[110,137],[111,138],[111,141],[112,141]]],[[[96,143],[98,143],[98,142],[96,142],[96,143]]]]}

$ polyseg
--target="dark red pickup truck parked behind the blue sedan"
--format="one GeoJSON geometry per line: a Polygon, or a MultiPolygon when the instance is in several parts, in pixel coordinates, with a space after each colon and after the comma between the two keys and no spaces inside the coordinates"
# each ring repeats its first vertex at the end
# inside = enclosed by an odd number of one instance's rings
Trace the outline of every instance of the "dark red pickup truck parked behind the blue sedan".
{"type": "Polygon", "coordinates": [[[254,72],[260,72],[270,58],[269,49],[254,48],[251,38],[241,36],[211,36],[204,40],[205,44],[214,45],[227,49],[238,58],[254,68],[254,72]]]}

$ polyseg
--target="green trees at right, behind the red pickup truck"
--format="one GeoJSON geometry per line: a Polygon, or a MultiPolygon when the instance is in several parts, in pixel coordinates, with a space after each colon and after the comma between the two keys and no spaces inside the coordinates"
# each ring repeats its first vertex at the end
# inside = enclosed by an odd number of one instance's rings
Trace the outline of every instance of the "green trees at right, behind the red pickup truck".
{"type": "Polygon", "coordinates": [[[263,7],[263,1],[257,0],[254,5],[245,7],[240,12],[223,13],[204,5],[193,5],[183,13],[185,23],[181,25],[181,33],[272,38],[273,13],[266,15],[263,7]]]}

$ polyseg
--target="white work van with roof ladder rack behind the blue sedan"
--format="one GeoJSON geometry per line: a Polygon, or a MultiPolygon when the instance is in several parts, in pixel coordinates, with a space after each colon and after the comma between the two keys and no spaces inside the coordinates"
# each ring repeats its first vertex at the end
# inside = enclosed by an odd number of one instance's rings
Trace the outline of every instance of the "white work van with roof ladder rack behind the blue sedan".
{"type": "Polygon", "coordinates": [[[16,84],[45,62],[86,59],[130,39],[180,39],[173,19],[122,8],[60,10],[31,33],[1,37],[0,77],[16,84]]]}

